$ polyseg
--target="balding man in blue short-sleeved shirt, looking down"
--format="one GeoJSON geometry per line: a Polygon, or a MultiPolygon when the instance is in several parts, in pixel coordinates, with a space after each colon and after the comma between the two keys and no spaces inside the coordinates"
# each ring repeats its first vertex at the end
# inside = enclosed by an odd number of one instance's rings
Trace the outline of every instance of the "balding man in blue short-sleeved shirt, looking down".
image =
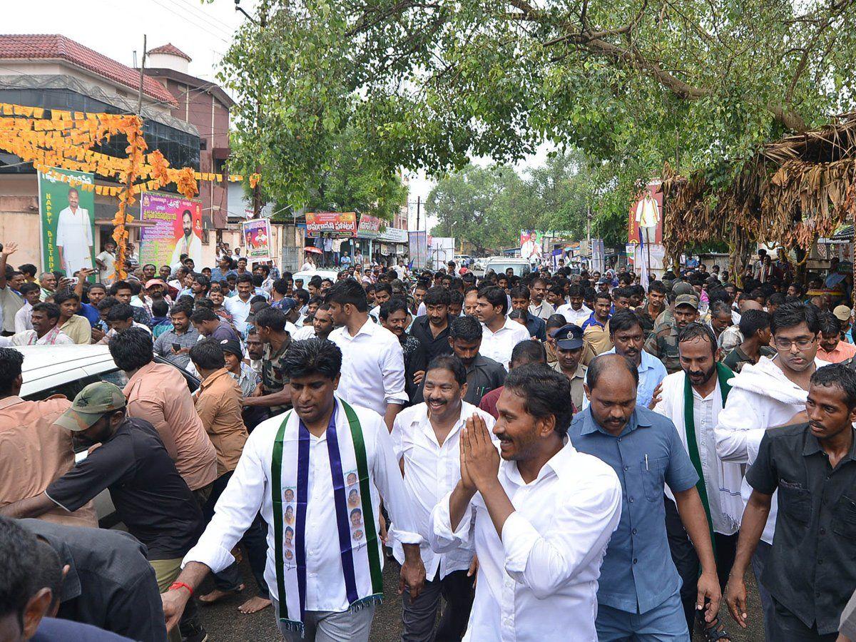
{"type": "Polygon", "coordinates": [[[610,640],[689,640],[672,562],[663,508],[664,484],[698,552],[696,608],[710,622],[721,591],[698,474],[667,418],[636,405],[639,372],[620,354],[602,354],[589,365],[590,406],[574,417],[568,437],[574,448],[613,467],[621,480],[621,521],[609,540],[597,590],[597,637],[610,640]]]}

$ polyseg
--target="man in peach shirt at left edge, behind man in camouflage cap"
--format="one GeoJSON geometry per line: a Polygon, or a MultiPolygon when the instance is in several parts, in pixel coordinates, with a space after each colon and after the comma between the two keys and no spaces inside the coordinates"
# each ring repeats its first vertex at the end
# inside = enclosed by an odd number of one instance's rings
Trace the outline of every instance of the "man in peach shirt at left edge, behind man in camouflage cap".
{"type": "MultiPolygon", "coordinates": [[[[68,399],[21,399],[24,355],[0,348],[0,507],[40,495],[74,467],[71,433],[53,425],[71,407],[68,399]]],[[[39,519],[98,528],[92,502],[69,513],[56,506],[39,519]]]]}

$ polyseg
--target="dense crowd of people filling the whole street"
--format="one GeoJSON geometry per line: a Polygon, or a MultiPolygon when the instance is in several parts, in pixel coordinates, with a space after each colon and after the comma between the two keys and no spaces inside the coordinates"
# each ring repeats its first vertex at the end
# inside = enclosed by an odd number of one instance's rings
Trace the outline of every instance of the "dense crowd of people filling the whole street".
{"type": "Polygon", "coordinates": [[[402,640],[730,640],[756,614],[769,642],[856,639],[852,311],[769,259],[742,286],[229,253],[93,283],[15,249],[0,639],[202,642],[239,550],[241,613],[286,640],[369,639],[393,560],[402,640]],[[21,398],[15,347],[89,343],[119,372],[21,398]]]}

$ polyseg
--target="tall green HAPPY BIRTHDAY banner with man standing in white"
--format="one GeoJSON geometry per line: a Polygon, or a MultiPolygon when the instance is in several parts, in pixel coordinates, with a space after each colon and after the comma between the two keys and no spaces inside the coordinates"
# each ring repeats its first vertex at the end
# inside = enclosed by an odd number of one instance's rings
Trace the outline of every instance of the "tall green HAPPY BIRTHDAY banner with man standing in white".
{"type": "Polygon", "coordinates": [[[74,276],[95,265],[95,176],[68,169],[39,172],[42,266],[74,276]]]}

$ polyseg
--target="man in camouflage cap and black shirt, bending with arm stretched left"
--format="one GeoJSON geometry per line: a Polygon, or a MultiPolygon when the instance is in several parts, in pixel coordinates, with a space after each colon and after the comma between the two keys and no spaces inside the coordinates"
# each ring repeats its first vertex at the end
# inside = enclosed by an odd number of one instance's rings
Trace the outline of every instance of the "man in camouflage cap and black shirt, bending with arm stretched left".
{"type": "MultiPolygon", "coordinates": [[[[146,545],[158,587],[167,591],[181,570],[181,558],[203,530],[202,512],[169,457],[152,424],[130,418],[125,395],[112,383],[90,383],[55,422],[84,443],[100,444],[86,459],[50,484],[45,492],[0,508],[7,517],[38,517],[50,510],[74,511],[102,490],[110,490],[116,514],[128,532],[146,545]]],[[[189,614],[182,633],[200,632],[198,616],[189,614]]]]}

